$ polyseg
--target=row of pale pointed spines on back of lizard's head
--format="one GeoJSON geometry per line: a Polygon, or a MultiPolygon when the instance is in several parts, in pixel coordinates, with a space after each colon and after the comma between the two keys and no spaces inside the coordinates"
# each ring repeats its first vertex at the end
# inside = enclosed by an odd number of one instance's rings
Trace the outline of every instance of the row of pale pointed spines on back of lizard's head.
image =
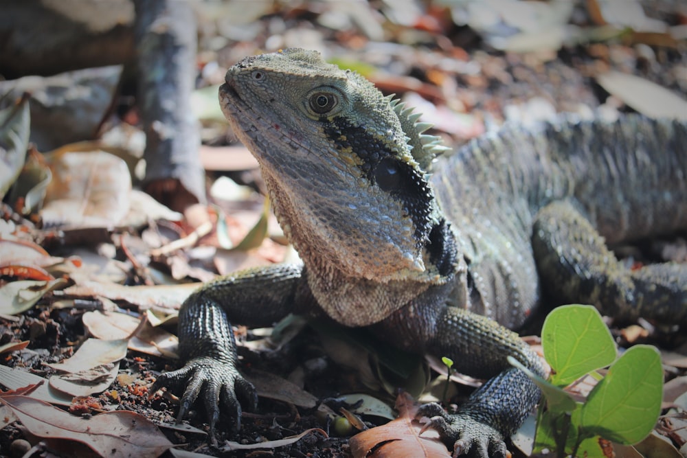
{"type": "Polygon", "coordinates": [[[413,108],[407,107],[405,102],[394,99],[394,94],[387,95],[386,99],[394,108],[398,120],[401,122],[403,132],[408,137],[408,144],[412,147],[411,154],[413,158],[420,164],[420,168],[423,171],[430,172],[434,158],[451,148],[443,144],[441,137],[424,133],[431,128],[432,124],[418,122],[422,113],[414,113],[413,108]]]}

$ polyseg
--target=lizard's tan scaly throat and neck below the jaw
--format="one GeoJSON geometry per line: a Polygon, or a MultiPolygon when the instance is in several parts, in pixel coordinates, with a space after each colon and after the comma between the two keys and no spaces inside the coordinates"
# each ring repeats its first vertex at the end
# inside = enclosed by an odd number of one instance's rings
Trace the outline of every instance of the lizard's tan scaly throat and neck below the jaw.
{"type": "MultiPolygon", "coordinates": [[[[394,271],[390,266],[383,275],[370,276],[372,260],[355,260],[361,264],[359,271],[349,262],[339,264],[339,253],[330,252],[336,245],[322,238],[341,237],[342,234],[319,233],[317,218],[303,218],[294,209],[297,204],[289,198],[287,190],[282,190],[269,174],[264,176],[274,213],[303,260],[304,276],[313,297],[338,323],[364,326],[382,321],[429,288],[447,284],[455,276],[457,250],[453,231],[444,218],[433,226],[425,242],[423,271],[405,268],[394,271]]],[[[343,234],[343,237],[348,236],[343,234]]]]}

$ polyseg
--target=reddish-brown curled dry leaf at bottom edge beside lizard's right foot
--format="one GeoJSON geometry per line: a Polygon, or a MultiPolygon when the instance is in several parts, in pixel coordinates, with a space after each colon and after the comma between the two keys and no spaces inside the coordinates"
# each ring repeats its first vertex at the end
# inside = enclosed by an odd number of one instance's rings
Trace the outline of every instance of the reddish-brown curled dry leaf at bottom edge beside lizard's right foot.
{"type": "Polygon", "coordinates": [[[400,413],[396,420],[351,437],[349,444],[354,458],[451,456],[434,431],[420,436],[422,425],[414,420],[418,406],[410,396],[398,395],[396,409],[400,413]]]}

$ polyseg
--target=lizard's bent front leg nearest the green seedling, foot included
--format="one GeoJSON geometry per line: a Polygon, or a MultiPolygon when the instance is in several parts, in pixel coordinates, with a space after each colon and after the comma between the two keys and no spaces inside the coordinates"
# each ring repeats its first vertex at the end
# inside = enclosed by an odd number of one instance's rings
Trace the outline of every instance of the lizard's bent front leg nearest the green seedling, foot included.
{"type": "Polygon", "coordinates": [[[508,356],[541,376],[543,362],[515,332],[482,315],[445,306],[442,297],[430,292],[418,299],[424,307],[410,304],[377,330],[396,345],[448,356],[461,373],[488,379],[458,413],[426,404],[418,415],[431,419],[428,426],[438,431],[454,456],[505,456],[504,439],[519,428],[540,396],[532,380],[508,363],[508,356]]]}

